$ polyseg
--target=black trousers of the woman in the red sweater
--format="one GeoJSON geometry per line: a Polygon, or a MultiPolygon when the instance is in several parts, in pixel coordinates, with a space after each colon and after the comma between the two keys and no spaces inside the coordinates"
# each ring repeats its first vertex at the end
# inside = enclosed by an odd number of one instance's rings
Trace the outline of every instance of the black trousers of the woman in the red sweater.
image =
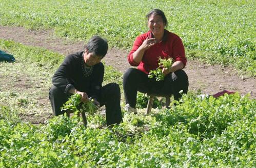
{"type": "Polygon", "coordinates": [[[183,93],[188,92],[188,76],[184,70],[180,69],[168,74],[164,81],[156,81],[155,78],[148,78],[143,71],[129,68],[123,77],[123,88],[126,104],[131,107],[136,106],[137,91],[149,94],[173,94],[175,100],[179,100],[183,93]]]}

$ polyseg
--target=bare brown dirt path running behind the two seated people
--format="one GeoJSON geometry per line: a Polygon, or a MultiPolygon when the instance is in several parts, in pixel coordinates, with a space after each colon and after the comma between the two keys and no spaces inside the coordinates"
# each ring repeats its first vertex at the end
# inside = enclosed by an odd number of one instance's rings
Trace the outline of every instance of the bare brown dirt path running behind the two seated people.
{"type": "MultiPolygon", "coordinates": [[[[71,41],[56,37],[53,31],[26,30],[22,27],[0,26],[0,38],[14,40],[25,45],[40,46],[45,49],[67,55],[83,49],[84,41],[71,41]]],[[[127,51],[112,48],[103,59],[107,65],[122,73],[130,67],[127,62],[127,51]]],[[[202,90],[206,94],[214,94],[224,89],[240,92],[242,95],[250,92],[255,99],[256,79],[239,77],[231,68],[205,65],[188,60],[184,69],[189,78],[189,90],[202,90]]]]}

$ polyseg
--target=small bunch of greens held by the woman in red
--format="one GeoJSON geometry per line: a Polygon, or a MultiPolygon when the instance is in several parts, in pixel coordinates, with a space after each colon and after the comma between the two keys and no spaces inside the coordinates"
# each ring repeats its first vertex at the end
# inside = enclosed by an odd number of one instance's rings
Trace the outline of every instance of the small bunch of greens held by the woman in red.
{"type": "Polygon", "coordinates": [[[159,67],[157,67],[154,70],[150,70],[148,78],[155,77],[156,81],[163,81],[165,78],[165,75],[162,73],[163,68],[169,68],[172,65],[172,58],[168,59],[162,59],[159,56],[159,67]]]}

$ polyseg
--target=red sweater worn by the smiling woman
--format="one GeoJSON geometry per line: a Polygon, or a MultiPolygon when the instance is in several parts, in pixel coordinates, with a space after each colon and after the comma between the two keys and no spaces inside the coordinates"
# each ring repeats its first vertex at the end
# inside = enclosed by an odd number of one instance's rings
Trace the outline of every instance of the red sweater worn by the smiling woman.
{"type": "Polygon", "coordinates": [[[148,37],[152,37],[151,31],[144,33],[137,37],[134,41],[131,52],[128,55],[128,61],[130,65],[137,66],[137,69],[143,71],[146,74],[149,74],[149,71],[159,67],[159,56],[163,58],[171,57],[173,61],[182,61],[184,67],[187,63],[185,57],[185,50],[182,43],[182,40],[179,36],[165,30],[164,38],[161,42],[154,44],[148,50],[145,51],[144,56],[141,62],[138,64],[134,62],[132,54],[139,49],[143,41],[148,37]]]}

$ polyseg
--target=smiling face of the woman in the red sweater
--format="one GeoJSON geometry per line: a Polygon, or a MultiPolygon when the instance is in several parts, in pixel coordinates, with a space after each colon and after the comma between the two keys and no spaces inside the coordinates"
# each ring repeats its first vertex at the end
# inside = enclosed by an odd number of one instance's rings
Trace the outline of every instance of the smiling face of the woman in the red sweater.
{"type": "Polygon", "coordinates": [[[162,35],[165,29],[165,23],[160,15],[150,15],[148,18],[148,28],[154,36],[162,35]]]}

